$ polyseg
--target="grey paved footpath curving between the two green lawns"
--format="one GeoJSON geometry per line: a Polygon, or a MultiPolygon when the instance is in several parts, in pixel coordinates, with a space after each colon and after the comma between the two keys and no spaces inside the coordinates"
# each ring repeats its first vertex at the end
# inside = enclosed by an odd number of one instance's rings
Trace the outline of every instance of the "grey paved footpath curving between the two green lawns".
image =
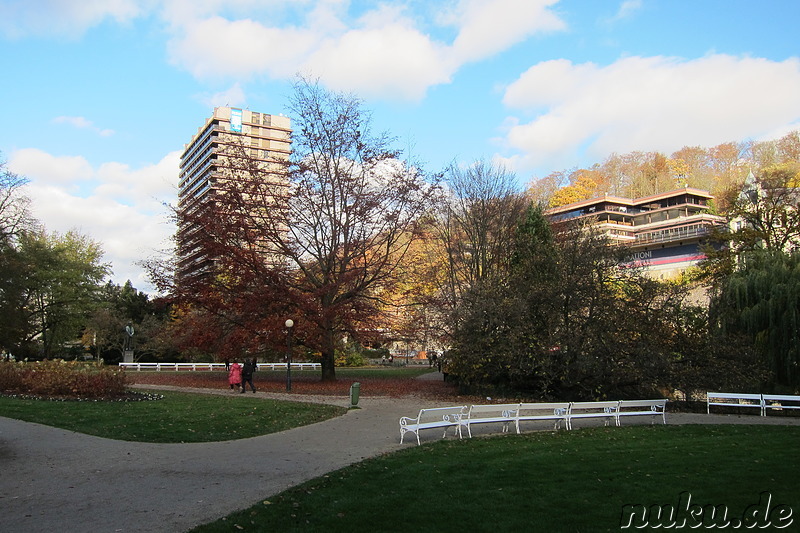
{"type": "MultiPolygon", "coordinates": [[[[286,398],[261,392],[256,397],[286,398]]],[[[281,433],[199,444],[115,441],[0,417],[0,531],[186,531],[332,470],[413,445],[399,444],[399,418],[434,404],[366,397],[359,406],[281,433]]],[[[784,417],[668,413],[667,418],[670,424],[800,424],[800,418],[784,417]]],[[[423,440],[441,437],[427,433],[423,440]]]]}

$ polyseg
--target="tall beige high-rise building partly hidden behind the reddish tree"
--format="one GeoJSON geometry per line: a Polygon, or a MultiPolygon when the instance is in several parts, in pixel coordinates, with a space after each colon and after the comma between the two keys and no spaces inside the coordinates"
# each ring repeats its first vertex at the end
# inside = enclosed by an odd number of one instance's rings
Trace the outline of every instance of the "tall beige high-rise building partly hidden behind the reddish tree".
{"type": "MultiPolygon", "coordinates": [[[[281,179],[280,172],[291,153],[291,123],[284,116],[256,113],[247,109],[217,107],[186,145],[181,156],[178,180],[178,211],[196,209],[224,190],[231,172],[231,158],[244,155],[266,175],[281,179]]],[[[202,274],[211,266],[199,244],[198,232],[184,217],[178,226],[176,277],[180,281],[202,274]]]]}

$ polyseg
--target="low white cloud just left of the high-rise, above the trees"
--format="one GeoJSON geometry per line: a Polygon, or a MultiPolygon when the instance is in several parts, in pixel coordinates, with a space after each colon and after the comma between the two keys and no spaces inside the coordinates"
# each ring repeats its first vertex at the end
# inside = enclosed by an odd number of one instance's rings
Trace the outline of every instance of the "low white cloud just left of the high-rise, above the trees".
{"type": "Polygon", "coordinates": [[[114,162],[94,169],[81,157],[25,149],[11,154],[8,167],[30,179],[25,193],[48,231],[74,229],[98,241],[116,283],[130,279],[138,289],[150,291],[136,263],[169,245],[174,227],[164,203],[174,203],[179,160],[180,152],[172,152],[138,169],[114,162]],[[75,182],[82,182],[80,191],[75,182]]]}

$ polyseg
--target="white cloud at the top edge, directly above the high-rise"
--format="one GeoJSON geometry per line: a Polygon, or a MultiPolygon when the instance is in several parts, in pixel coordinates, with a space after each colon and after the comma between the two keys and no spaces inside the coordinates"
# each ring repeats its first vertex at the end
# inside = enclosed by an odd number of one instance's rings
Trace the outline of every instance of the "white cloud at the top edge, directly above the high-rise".
{"type": "Polygon", "coordinates": [[[549,10],[555,1],[460,0],[437,19],[456,28],[452,43],[423,32],[398,5],[379,4],[351,20],[350,2],[306,2],[292,6],[299,12],[292,24],[279,17],[229,19],[173,10],[168,50],[173,64],[203,79],[285,79],[304,72],[337,90],[419,99],[431,86],[448,83],[466,62],[535,33],[564,29],[549,10]]]}

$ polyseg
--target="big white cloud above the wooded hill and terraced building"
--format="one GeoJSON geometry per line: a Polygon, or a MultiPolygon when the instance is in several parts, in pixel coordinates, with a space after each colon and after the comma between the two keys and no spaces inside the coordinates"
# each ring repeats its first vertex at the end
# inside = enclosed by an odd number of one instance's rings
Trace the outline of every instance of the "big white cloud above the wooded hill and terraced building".
{"type": "Polygon", "coordinates": [[[583,156],[713,146],[800,120],[800,60],[627,57],[601,67],[534,65],[506,90],[520,111],[506,141],[516,168],[568,168],[583,156]],[[525,116],[533,116],[526,119],[525,116]]]}

